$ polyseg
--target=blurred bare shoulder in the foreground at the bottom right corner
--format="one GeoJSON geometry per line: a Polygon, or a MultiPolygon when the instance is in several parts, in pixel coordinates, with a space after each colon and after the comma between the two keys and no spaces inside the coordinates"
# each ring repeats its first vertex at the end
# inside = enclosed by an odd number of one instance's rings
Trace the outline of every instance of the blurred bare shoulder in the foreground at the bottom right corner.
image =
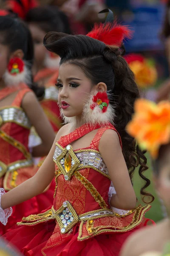
{"type": "Polygon", "coordinates": [[[156,240],[160,241],[167,222],[168,220],[160,221],[159,224],[143,227],[134,232],[126,240],[120,256],[140,256],[142,253],[156,249],[156,240]]]}

